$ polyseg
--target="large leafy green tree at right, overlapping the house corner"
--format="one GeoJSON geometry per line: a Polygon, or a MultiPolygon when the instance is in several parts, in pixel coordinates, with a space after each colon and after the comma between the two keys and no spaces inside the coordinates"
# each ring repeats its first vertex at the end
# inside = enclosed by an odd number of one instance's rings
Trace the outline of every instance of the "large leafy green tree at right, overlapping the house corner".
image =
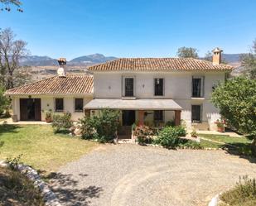
{"type": "Polygon", "coordinates": [[[256,79],[229,79],[215,89],[211,100],[229,127],[253,138],[251,147],[256,156],[256,79]]]}

